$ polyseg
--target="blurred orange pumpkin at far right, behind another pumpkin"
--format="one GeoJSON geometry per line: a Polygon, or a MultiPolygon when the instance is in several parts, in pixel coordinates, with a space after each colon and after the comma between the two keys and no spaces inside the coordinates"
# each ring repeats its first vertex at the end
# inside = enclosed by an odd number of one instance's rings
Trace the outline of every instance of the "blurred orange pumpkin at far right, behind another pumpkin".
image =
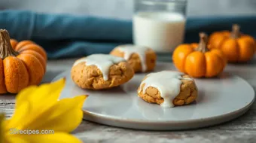
{"type": "Polygon", "coordinates": [[[242,34],[236,24],[233,25],[232,32],[213,32],[209,37],[209,44],[212,48],[222,50],[229,62],[247,62],[256,51],[254,38],[242,34]]]}

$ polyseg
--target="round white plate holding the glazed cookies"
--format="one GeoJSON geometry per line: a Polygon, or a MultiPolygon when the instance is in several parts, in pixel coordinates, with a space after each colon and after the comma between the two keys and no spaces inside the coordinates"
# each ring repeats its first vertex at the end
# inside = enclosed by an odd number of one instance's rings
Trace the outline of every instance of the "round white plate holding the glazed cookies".
{"type": "MultiPolygon", "coordinates": [[[[157,63],[155,71],[175,70],[171,63],[157,63]]],[[[120,87],[111,90],[82,90],[73,84],[70,71],[53,81],[66,77],[61,99],[87,94],[84,119],[110,126],[131,129],[172,130],[212,126],[232,120],[248,111],[254,102],[253,88],[242,78],[223,74],[218,78],[195,79],[199,96],[191,105],[161,108],[137,96],[136,90],[146,74],[136,74],[120,87]]]]}

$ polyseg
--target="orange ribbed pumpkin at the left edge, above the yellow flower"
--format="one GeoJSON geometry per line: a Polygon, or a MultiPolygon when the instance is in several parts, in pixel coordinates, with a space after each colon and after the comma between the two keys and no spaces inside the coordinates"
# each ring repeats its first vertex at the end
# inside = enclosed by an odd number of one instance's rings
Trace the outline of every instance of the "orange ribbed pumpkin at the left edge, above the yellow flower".
{"type": "Polygon", "coordinates": [[[37,44],[11,40],[8,31],[0,29],[0,93],[18,93],[39,84],[46,71],[46,60],[45,51],[37,44]]]}

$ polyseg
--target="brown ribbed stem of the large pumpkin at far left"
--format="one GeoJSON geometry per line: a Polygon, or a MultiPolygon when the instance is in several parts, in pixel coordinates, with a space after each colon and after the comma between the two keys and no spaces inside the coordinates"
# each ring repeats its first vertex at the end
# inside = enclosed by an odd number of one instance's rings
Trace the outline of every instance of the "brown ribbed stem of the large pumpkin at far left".
{"type": "Polygon", "coordinates": [[[0,29],[0,58],[17,56],[19,53],[11,47],[10,36],[7,30],[0,29]]]}

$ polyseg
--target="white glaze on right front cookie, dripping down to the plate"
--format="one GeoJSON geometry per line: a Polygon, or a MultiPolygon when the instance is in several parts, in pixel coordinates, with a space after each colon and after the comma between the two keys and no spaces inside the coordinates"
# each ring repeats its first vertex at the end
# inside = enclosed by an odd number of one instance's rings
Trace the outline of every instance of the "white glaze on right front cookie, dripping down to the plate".
{"type": "Polygon", "coordinates": [[[142,84],[140,84],[138,93],[141,91],[145,94],[148,87],[157,88],[160,92],[160,96],[164,99],[164,102],[161,104],[162,107],[172,108],[174,107],[172,100],[180,93],[181,90],[181,80],[191,80],[192,78],[182,78],[184,75],[181,72],[177,71],[160,71],[147,75],[142,84]],[[145,86],[142,89],[142,85],[145,86]]]}

